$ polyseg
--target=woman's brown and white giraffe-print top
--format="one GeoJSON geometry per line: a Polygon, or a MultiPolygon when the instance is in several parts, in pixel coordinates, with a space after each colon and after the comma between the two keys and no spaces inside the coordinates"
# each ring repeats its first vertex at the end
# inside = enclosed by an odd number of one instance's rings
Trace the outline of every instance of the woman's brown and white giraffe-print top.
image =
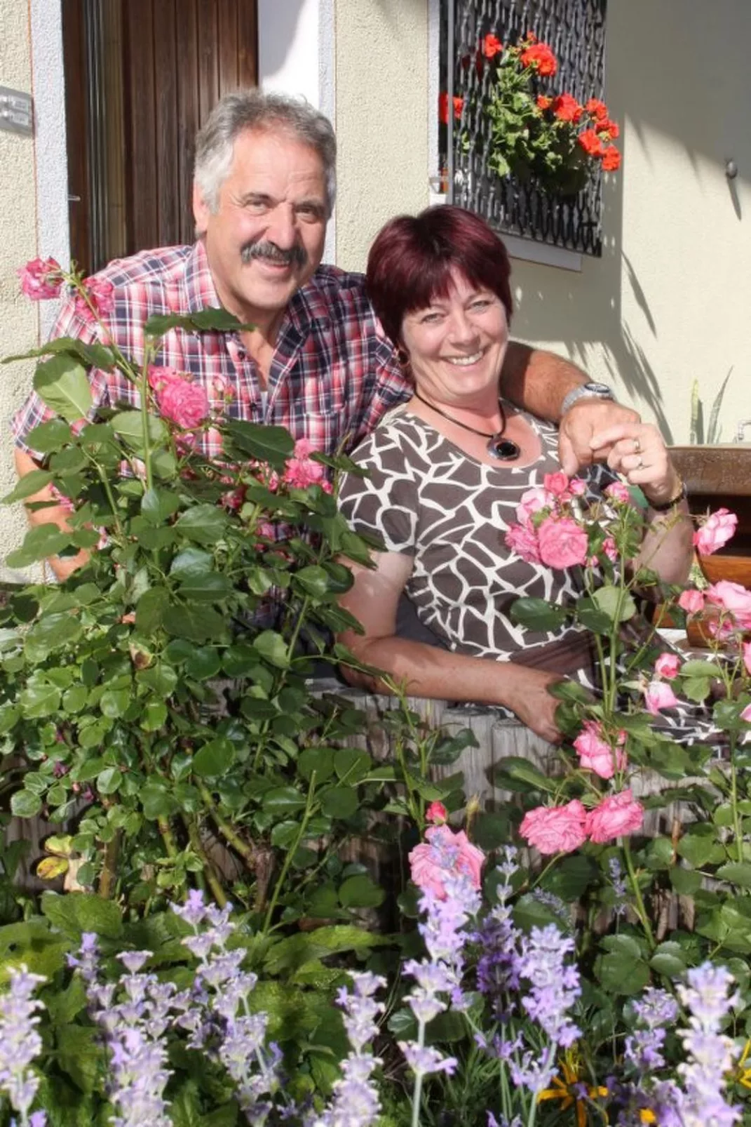
{"type": "MultiPolygon", "coordinates": [[[[569,603],[580,594],[575,570],[527,564],[506,547],[521,495],[560,469],[557,428],[522,415],[539,435],[540,456],[531,465],[495,467],[470,458],[401,405],[351,455],[368,477],[345,474],[339,504],[356,532],[379,535],[387,551],[413,557],[406,595],[449,649],[583,672],[590,653],[580,628],[534,631],[509,618],[519,595],[569,603]]],[[[602,465],[582,476],[590,495],[615,480],[602,465]]]]}

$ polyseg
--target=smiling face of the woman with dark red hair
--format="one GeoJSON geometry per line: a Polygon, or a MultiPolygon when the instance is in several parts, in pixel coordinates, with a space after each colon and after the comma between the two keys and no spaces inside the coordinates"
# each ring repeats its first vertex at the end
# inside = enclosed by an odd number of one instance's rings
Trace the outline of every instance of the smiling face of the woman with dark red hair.
{"type": "Polygon", "coordinates": [[[506,309],[492,290],[452,270],[447,296],[406,313],[402,345],[418,391],[439,403],[465,406],[498,393],[509,343],[506,309]]]}

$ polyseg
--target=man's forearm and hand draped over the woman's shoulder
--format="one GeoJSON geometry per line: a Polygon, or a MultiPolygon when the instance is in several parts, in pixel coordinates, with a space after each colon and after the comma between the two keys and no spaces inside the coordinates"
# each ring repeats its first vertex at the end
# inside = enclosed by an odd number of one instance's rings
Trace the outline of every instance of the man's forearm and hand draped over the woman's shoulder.
{"type": "Polygon", "coordinates": [[[596,398],[580,399],[561,418],[565,396],[587,381],[587,373],[563,356],[509,341],[501,372],[503,394],[538,418],[561,424],[558,458],[570,477],[581,467],[607,459],[610,447],[592,444],[598,432],[641,421],[631,407],[596,398]]]}

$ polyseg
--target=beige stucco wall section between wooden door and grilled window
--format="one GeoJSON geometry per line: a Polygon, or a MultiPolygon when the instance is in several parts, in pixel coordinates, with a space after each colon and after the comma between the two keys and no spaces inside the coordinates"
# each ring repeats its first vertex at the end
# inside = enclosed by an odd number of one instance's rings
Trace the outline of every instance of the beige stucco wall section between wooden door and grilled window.
{"type": "Polygon", "coordinates": [[[337,0],[337,263],[363,269],[387,219],[428,202],[426,0],[337,0]]]}

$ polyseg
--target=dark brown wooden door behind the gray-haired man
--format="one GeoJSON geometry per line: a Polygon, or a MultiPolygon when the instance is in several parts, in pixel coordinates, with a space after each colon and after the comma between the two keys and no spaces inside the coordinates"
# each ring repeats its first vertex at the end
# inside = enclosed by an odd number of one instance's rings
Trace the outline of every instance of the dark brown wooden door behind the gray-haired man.
{"type": "Polygon", "coordinates": [[[193,241],[194,141],[258,82],[257,0],[64,0],[71,255],[193,241]]]}

